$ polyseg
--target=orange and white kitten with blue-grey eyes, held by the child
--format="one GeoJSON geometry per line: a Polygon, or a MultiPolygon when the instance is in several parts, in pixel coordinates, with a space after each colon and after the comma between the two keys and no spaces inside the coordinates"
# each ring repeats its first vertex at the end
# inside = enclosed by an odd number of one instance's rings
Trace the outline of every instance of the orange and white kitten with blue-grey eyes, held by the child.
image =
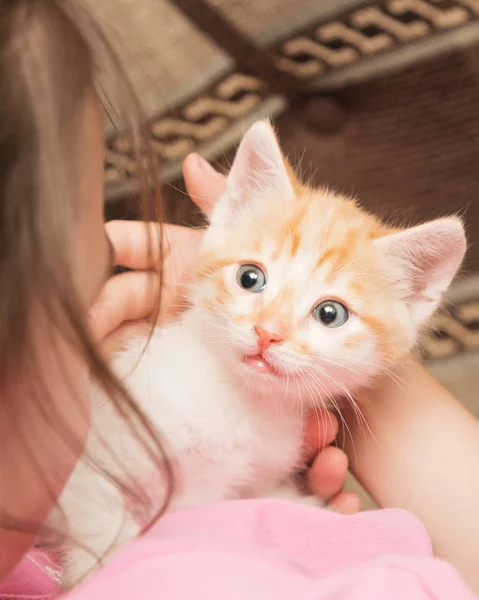
{"type": "MultiPolygon", "coordinates": [[[[305,415],[406,356],[466,248],[458,218],[392,230],[348,198],[302,186],[266,122],[242,140],[210,220],[191,308],[144,354],[138,339],[113,361],[174,465],[170,511],[299,499],[291,481],[305,415]]],[[[88,454],[148,493],[155,469],[104,400],[95,391],[88,454]]],[[[164,498],[156,484],[153,510],[164,498]]],[[[139,532],[120,492],[86,462],[60,505],[71,537],[96,556],[139,532]]],[[[80,546],[63,556],[66,587],[95,566],[80,546]]]]}

